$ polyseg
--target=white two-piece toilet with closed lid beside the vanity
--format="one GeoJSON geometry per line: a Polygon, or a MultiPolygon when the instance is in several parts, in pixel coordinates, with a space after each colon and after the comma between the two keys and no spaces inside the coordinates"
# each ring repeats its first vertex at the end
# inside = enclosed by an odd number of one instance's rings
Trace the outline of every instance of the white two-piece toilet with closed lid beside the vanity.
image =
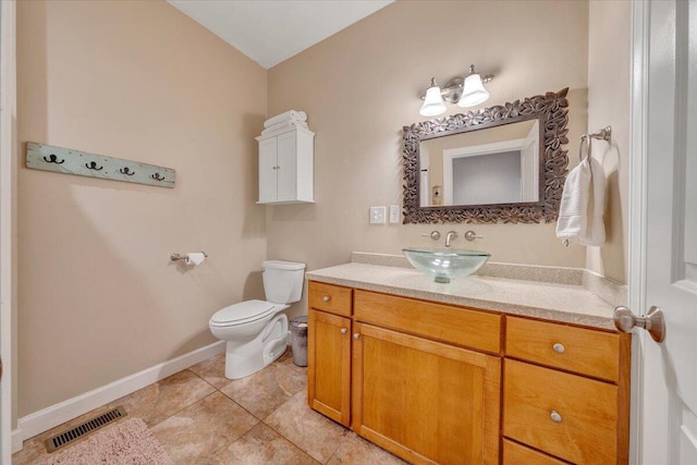
{"type": "Polygon", "coordinates": [[[229,305],[210,318],[210,332],[227,342],[225,378],[253,375],[283,355],[288,317],[281,311],[301,299],[304,270],[305,264],[262,261],[267,299],[229,305]]]}

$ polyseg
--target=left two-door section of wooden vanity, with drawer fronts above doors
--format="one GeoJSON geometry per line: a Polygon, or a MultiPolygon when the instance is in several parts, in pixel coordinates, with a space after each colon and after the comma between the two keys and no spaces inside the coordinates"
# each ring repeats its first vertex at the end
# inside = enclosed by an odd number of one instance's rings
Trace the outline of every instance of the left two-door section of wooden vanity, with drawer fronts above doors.
{"type": "Polygon", "coordinates": [[[309,405],[414,464],[498,464],[502,316],[351,291],[308,284],[309,405]]]}

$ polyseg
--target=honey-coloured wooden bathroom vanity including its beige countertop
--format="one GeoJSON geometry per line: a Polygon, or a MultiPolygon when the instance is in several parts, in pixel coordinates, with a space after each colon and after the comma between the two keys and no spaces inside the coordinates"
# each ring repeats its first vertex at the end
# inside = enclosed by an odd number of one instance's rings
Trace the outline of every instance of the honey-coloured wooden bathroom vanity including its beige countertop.
{"type": "Polygon", "coordinates": [[[353,262],[307,278],[317,412],[415,464],[627,463],[631,336],[590,292],[353,262]]]}

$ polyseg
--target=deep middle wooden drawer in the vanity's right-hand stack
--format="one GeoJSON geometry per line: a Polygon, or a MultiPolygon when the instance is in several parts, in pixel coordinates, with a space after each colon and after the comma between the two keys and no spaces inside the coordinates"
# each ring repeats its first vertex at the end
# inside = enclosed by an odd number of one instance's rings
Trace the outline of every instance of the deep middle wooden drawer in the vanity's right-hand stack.
{"type": "Polygon", "coordinates": [[[503,435],[577,464],[617,463],[617,387],[505,360],[503,435]]]}

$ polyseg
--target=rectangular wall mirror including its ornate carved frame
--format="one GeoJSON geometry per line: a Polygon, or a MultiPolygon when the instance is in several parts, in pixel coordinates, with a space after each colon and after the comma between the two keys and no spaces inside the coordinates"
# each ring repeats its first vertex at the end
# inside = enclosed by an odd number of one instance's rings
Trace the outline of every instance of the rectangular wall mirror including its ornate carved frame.
{"type": "Polygon", "coordinates": [[[404,126],[404,223],[555,221],[567,91],[404,126]]]}

